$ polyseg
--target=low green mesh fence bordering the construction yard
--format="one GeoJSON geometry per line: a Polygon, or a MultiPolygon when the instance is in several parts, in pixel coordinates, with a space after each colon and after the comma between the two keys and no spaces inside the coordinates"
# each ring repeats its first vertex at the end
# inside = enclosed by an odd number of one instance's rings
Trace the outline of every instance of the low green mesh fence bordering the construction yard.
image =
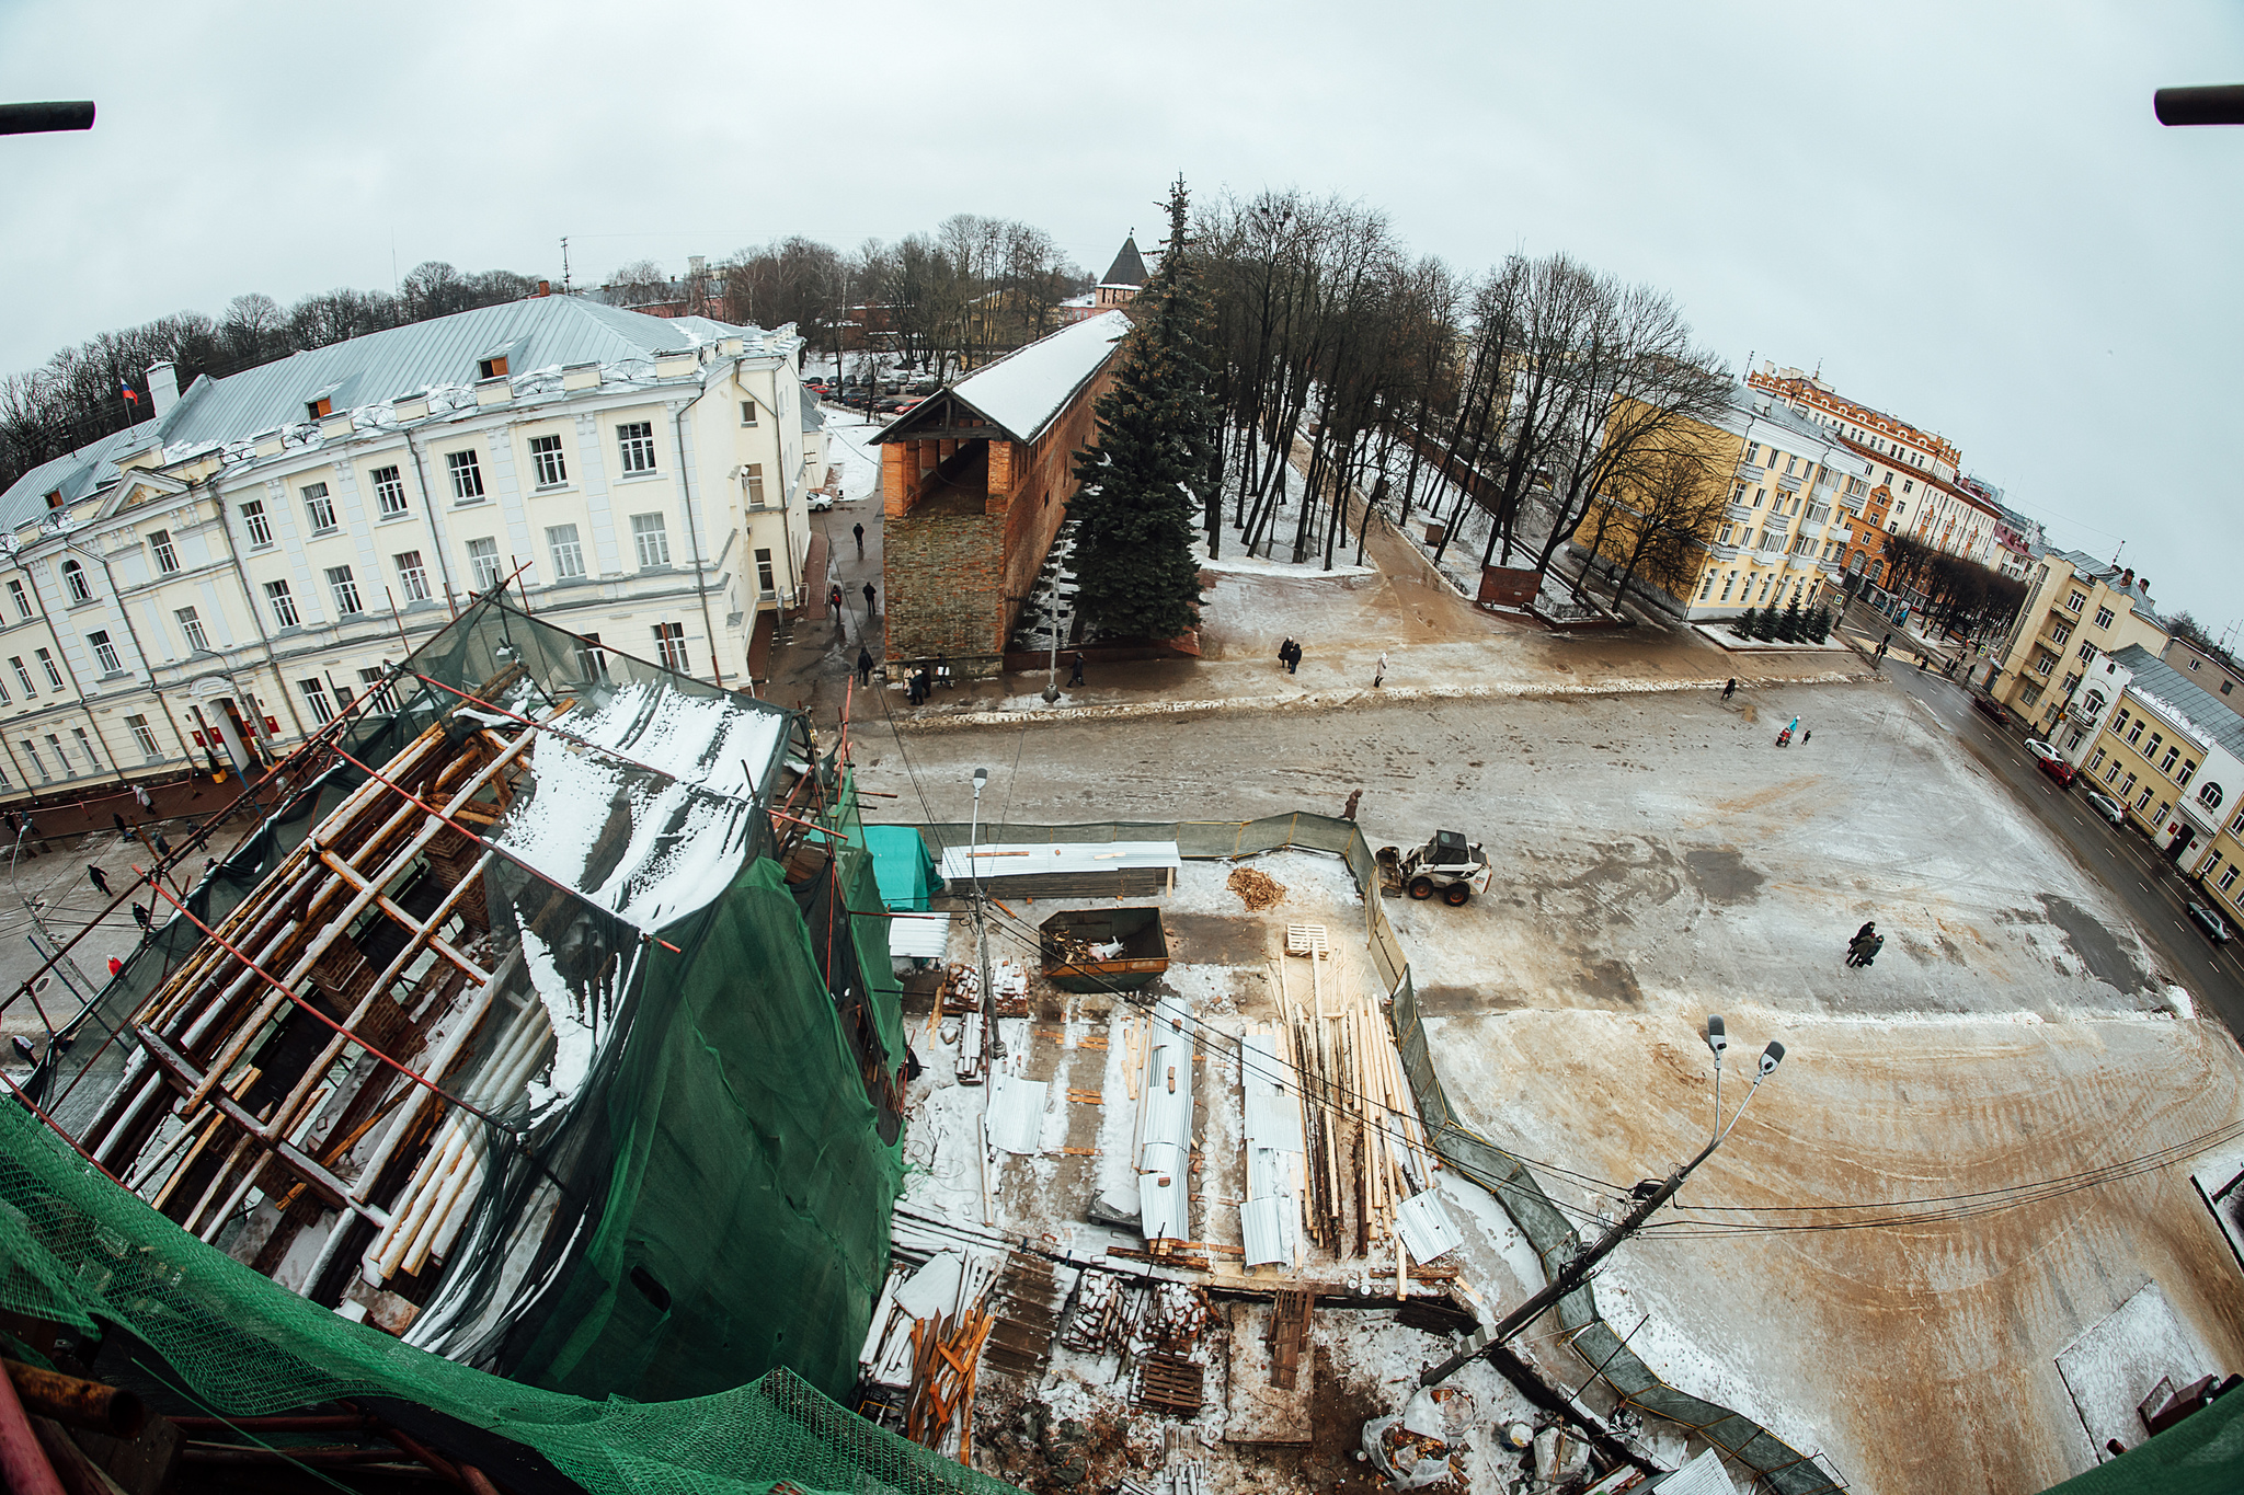
{"type": "MultiPolygon", "coordinates": [[[[936,856],[940,856],[945,847],[965,845],[965,825],[913,825],[913,829],[920,832],[922,841],[929,843],[929,849],[936,856]]],[[[1234,861],[1281,849],[1310,849],[1328,856],[1337,854],[1349,863],[1351,874],[1358,876],[1358,892],[1364,897],[1367,914],[1378,910],[1378,888],[1364,885],[1358,870],[1358,863],[1367,867],[1371,865],[1369,843],[1362,838],[1362,832],[1353,820],[1340,820],[1335,816],[1297,811],[1290,816],[1261,816],[1259,820],[1091,820],[1077,825],[1032,825],[1012,820],[999,827],[983,827],[981,832],[983,845],[1021,841],[1097,843],[1151,838],[1176,841],[1178,856],[1185,861],[1234,861]],[[1279,836],[1281,825],[1284,834],[1279,836]],[[1299,836],[1304,827],[1313,834],[1299,836]],[[1167,836],[1162,836],[1162,832],[1167,832],[1167,836]],[[1225,836],[1225,832],[1230,834],[1225,836]],[[1351,856],[1351,852],[1358,854],[1351,856]]],[[[1385,914],[1380,921],[1385,921],[1385,914]]],[[[1573,1235],[1573,1226],[1564,1222],[1564,1215],[1555,1204],[1551,1204],[1551,1197],[1544,1192],[1542,1183],[1526,1163],[1465,1127],[1456,1112],[1450,1109],[1450,1098],[1441,1089],[1441,1076],[1434,1074],[1434,1058],[1427,1051],[1425,1027],[1418,1022],[1418,1000],[1409,966],[1403,966],[1403,971],[1396,973],[1389,1024],[1394,1029],[1396,1053],[1403,1060],[1403,1076],[1411,1087],[1411,1101],[1418,1105],[1418,1118],[1427,1130],[1427,1143],[1443,1159],[1443,1163],[1495,1195],[1497,1204],[1503,1206],[1503,1213],[1519,1226],[1519,1233],[1535,1246],[1535,1255],[1542,1260],[1544,1271],[1557,1271],[1564,1255],[1580,1246],[1573,1235]]],[[[1824,1495],[1827,1491],[1847,1488],[1838,1475],[1822,1466],[1820,1457],[1802,1455],[1797,1448],[1773,1434],[1768,1428],[1762,1428],[1744,1412],[1703,1401],[1661,1381],[1658,1374],[1645,1365],[1618,1334],[1613,1334],[1611,1325],[1604,1322],[1604,1316],[1598,1313],[1598,1296],[1589,1284],[1566,1293],[1557,1304],[1557,1313],[1566,1322],[1569,1340],[1573,1343],[1575,1354],[1582,1356],[1582,1363],[1589,1365],[1591,1376],[1613,1387],[1622,1405],[1634,1405],[1652,1417],[1658,1417],[1661,1421],[1696,1432],[1708,1443],[1714,1443],[1726,1455],[1759,1475],[1779,1495],[1824,1495]],[[1593,1340],[1595,1347],[1584,1349],[1582,1340],[1593,1340]],[[1723,1437],[1714,1437],[1717,1430],[1721,1430],[1723,1437]],[[1739,1437],[1728,1437],[1730,1430],[1739,1437]]],[[[1501,1352],[1501,1347],[1490,1349],[1501,1352]]],[[[1506,1378],[1519,1385],[1530,1401],[1537,1401],[1537,1390],[1557,1399],[1560,1405],[1551,1410],[1564,1412],[1582,1432],[1589,1432],[1591,1439],[1613,1457],[1622,1457],[1638,1468],[1647,1468],[1643,1457],[1629,1452],[1627,1446],[1613,1439],[1613,1434],[1598,1426],[1595,1419],[1582,1417],[1564,1392],[1535,1376],[1526,1361],[1510,1352],[1492,1354],[1490,1358],[1497,1361],[1506,1378]],[[1517,1367],[1519,1374],[1515,1374],[1512,1367],[1517,1367]]],[[[1544,1403],[1537,1401],[1537,1405],[1544,1403]]]]}

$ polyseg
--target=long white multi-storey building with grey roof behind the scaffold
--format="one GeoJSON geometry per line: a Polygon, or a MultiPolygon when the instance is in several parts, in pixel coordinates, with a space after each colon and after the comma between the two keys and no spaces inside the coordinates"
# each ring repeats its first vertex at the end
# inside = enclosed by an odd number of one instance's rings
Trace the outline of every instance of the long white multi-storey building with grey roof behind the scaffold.
{"type": "Polygon", "coordinates": [[[826,471],[801,338],[574,296],[177,392],[0,495],[0,798],[251,767],[458,603],[752,688],[826,471]]]}

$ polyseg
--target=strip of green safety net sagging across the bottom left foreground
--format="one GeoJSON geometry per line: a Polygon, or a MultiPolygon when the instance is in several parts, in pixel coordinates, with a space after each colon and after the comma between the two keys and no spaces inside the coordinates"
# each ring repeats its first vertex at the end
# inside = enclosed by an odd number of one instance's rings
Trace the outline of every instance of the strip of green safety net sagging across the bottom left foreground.
{"type": "Polygon", "coordinates": [[[233,1417],[395,1396],[525,1443],[586,1491],[1008,1491],[785,1369],[691,1401],[586,1401],[413,1349],[193,1239],[18,1105],[0,1105],[0,1309],[81,1334],[117,1325],[233,1417]]]}

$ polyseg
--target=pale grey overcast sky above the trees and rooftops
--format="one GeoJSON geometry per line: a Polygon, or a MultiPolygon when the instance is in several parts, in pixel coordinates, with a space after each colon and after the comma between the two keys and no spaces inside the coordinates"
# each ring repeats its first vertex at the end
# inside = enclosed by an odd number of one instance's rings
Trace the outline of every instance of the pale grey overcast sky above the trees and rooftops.
{"type": "Polygon", "coordinates": [[[422,260],[579,280],[1021,217],[1100,271],[1196,193],[1382,206],[1670,289],[1732,370],[1946,435],[2051,540],[2244,619],[2244,7],[0,0],[0,370],[422,260]],[[2228,453],[2228,455],[2224,455],[2228,453]]]}

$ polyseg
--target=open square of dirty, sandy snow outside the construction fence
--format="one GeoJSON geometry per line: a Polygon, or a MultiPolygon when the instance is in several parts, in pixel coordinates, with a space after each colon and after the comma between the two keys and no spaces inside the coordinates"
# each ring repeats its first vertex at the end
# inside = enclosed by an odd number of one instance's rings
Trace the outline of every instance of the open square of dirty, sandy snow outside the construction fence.
{"type": "MultiPolygon", "coordinates": [[[[2226,1029],[1878,679],[1730,702],[1636,681],[1355,697],[1122,733],[873,728],[857,753],[864,782],[911,807],[900,818],[963,818],[969,771],[992,767],[1012,820],[1333,814],[1362,789],[1373,845],[1436,827],[1483,841],[1492,897],[1389,912],[1452,1103],[1495,1141],[1620,1188],[1661,1177],[1712,1118],[1705,1013],[1739,1040],[1732,1107],[1741,1049],[1786,1042],[1679,1222],[2062,1179],[2244,1118],[2226,1029]],[[1775,749],[1793,717],[1809,735],[1775,749]],[[1854,971],[1840,957],[1865,919],[1887,946],[1854,971]]],[[[1542,1284],[1533,1264],[1506,1284],[1510,1260],[1474,1262],[1499,1309],[1542,1284]]],[[[2087,1428],[2105,1412],[2076,1401],[2058,1356],[2145,1284],[2215,1369],[2244,1369],[2244,1280],[2188,1163],[1937,1226],[1672,1228],[1616,1255],[1598,1291],[1620,1334],[1649,1313],[1629,1343],[1674,1385],[1827,1455],[1854,1488],[2033,1491],[2098,1459],[2087,1428]]],[[[1530,1358],[1584,1376],[1562,1345],[1530,1358]]]]}

